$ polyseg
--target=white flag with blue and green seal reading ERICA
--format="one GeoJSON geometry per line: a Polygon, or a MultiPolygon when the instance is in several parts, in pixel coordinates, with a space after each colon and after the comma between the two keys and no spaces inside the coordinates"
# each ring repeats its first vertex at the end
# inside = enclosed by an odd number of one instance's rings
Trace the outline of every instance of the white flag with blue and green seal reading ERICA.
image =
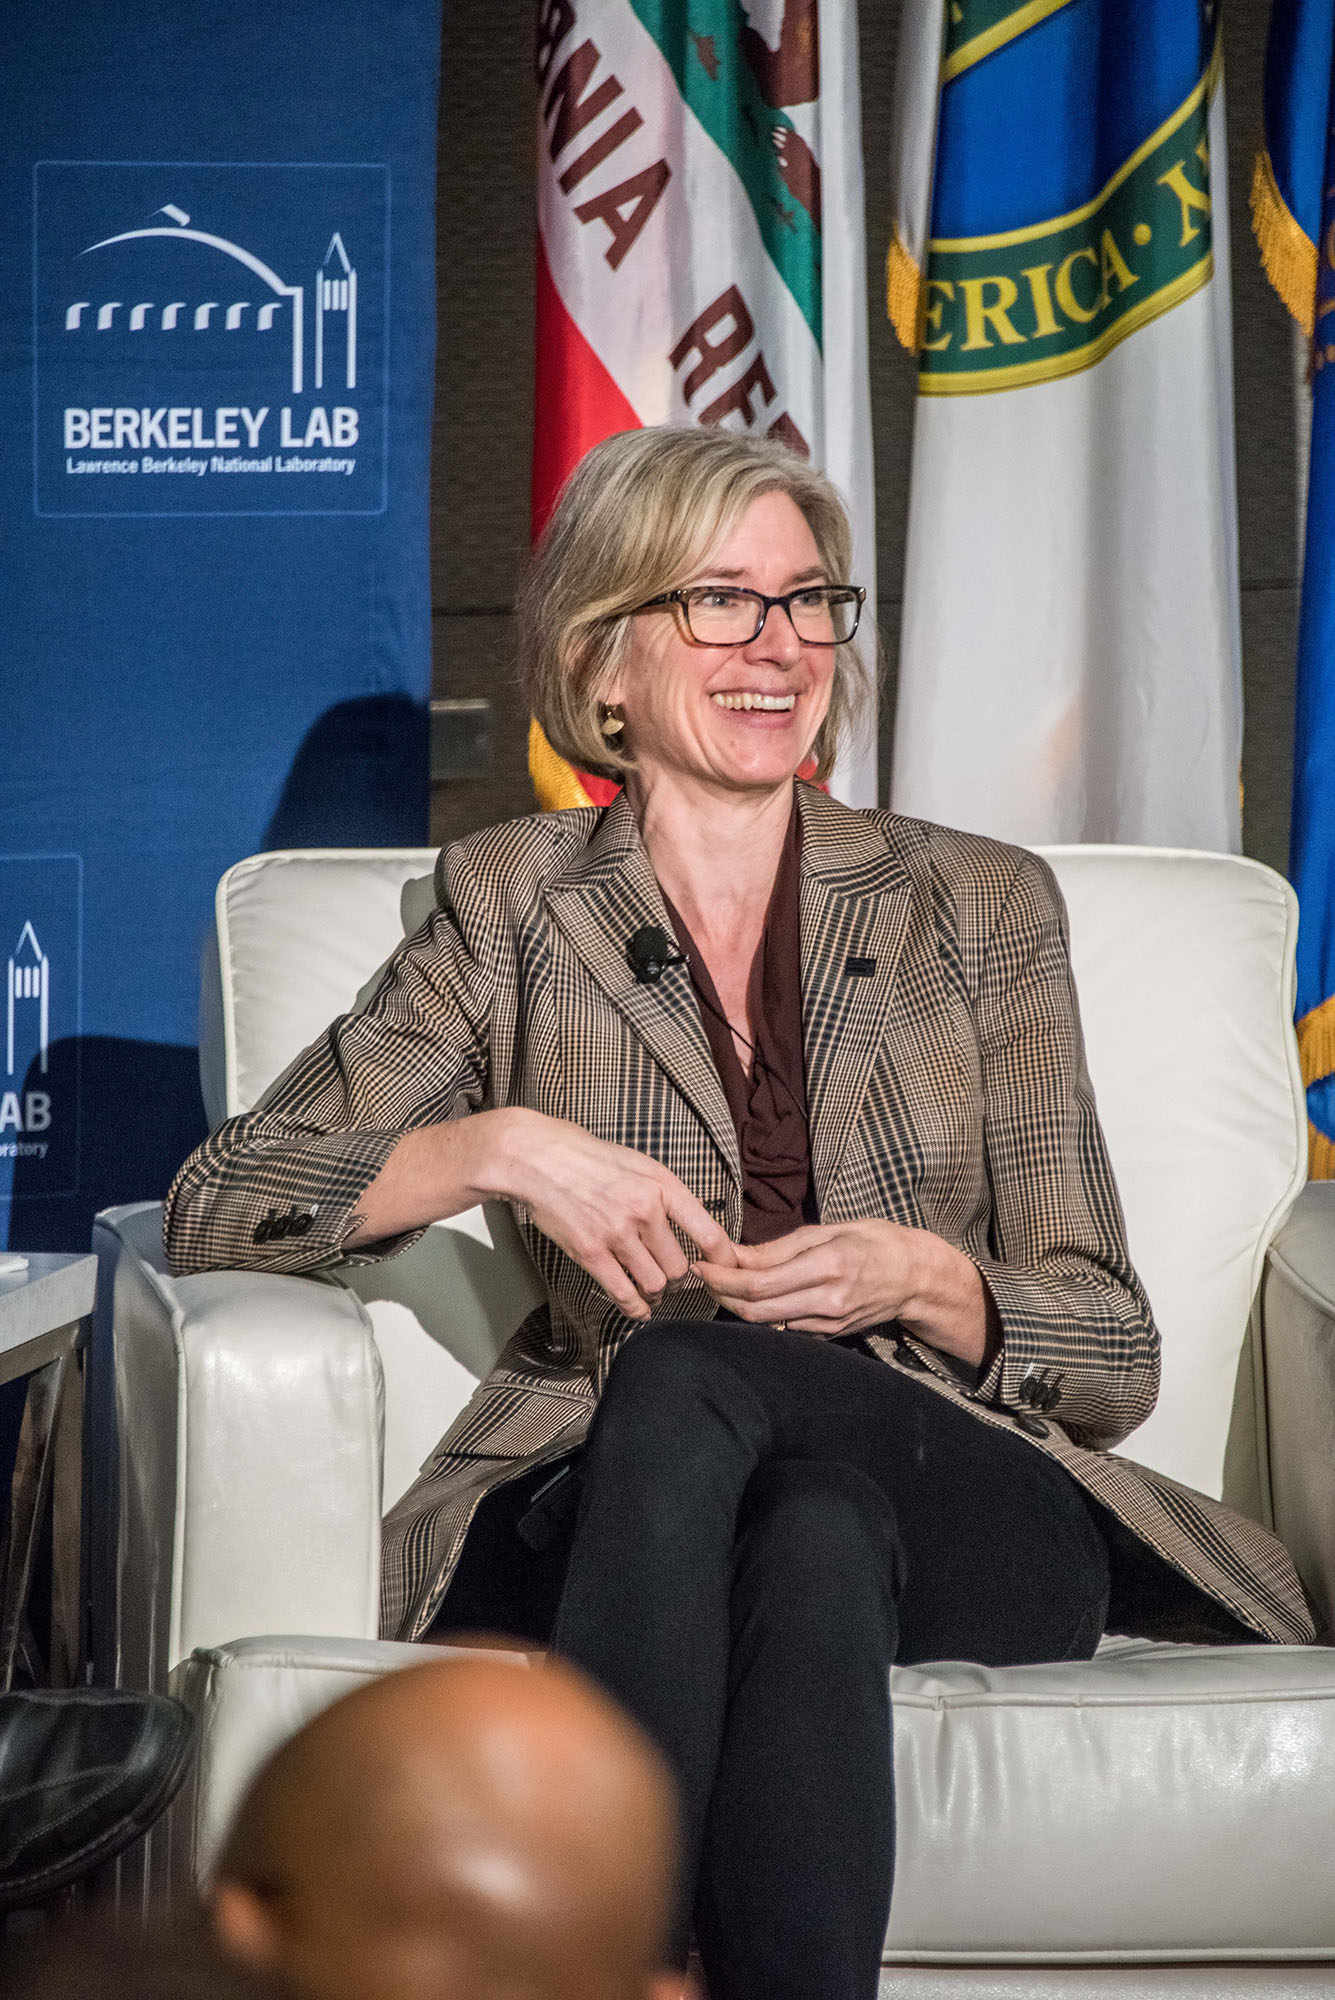
{"type": "Polygon", "coordinates": [[[1223,162],[1213,4],[905,6],[903,812],[1239,846],[1223,162]]]}

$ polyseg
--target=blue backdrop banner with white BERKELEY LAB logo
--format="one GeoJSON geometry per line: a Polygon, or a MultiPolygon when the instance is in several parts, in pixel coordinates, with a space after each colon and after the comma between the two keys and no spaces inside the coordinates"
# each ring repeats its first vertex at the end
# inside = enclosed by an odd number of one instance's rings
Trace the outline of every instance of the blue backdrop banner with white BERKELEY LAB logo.
{"type": "Polygon", "coordinates": [[[0,1218],[84,1248],[202,1134],[222,870],[426,840],[440,0],[0,40],[0,1218]]]}

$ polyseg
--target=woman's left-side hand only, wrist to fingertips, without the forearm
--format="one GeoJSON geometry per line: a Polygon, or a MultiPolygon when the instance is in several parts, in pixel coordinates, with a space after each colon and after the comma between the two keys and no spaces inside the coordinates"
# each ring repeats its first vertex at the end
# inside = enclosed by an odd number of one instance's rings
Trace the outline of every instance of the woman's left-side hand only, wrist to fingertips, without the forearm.
{"type": "MultiPolygon", "coordinates": [[[[488,1116],[488,1114],[484,1114],[488,1116]]],[[[582,1264],[624,1314],[648,1320],[689,1258],[669,1224],[709,1262],[735,1264],[725,1230],[666,1166],[582,1126],[522,1108],[494,1112],[496,1192],[520,1202],[544,1236],[582,1264]]]]}

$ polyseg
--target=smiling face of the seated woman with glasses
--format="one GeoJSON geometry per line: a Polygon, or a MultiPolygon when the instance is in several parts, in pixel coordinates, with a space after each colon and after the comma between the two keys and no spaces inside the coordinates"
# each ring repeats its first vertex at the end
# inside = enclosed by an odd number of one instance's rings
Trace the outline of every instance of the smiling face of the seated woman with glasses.
{"type": "MultiPolygon", "coordinates": [[[[683,584],[781,596],[843,582],[821,564],[805,516],[783,492],[751,500],[683,584]]],[[[671,608],[630,620],[608,702],[626,716],[634,788],[671,772],[729,792],[775,790],[805,762],[829,708],[835,648],[803,646],[773,606],[749,646],[693,646],[671,608]]]]}

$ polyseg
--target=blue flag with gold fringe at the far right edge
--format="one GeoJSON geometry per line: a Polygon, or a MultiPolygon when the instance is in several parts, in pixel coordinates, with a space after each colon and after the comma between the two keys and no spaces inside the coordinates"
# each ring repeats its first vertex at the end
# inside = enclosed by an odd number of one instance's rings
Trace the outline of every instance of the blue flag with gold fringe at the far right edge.
{"type": "Polygon", "coordinates": [[[1335,1178],[1335,6],[1275,0],[1251,214],[1265,270],[1313,336],[1289,874],[1301,904],[1297,1042],[1311,1172],[1335,1178]],[[1321,254],[1317,254],[1321,246],[1321,254]]]}

